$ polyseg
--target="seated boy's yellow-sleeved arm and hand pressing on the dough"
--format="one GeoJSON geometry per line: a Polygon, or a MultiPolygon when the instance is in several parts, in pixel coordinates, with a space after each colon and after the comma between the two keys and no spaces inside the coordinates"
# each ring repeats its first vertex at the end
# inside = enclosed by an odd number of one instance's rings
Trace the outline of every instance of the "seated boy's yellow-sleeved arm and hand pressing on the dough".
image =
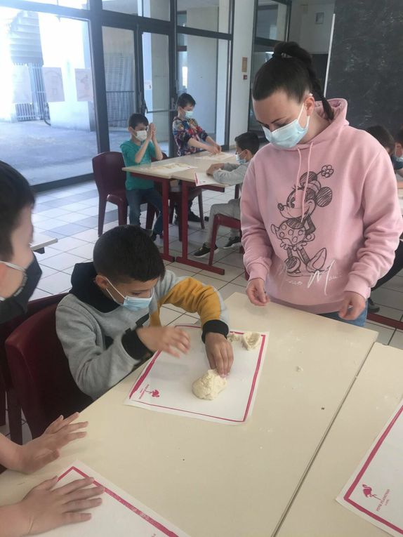
{"type": "Polygon", "coordinates": [[[187,312],[197,312],[202,321],[202,339],[212,369],[220,375],[230,373],[234,356],[227,341],[227,308],[216,289],[194,278],[178,278],[167,271],[157,285],[159,305],[173,304],[187,312]]]}

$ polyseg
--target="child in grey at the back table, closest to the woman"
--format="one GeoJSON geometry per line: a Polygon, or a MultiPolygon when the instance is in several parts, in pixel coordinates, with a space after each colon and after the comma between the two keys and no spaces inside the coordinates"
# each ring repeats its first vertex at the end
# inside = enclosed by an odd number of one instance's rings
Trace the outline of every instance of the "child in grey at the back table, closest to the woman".
{"type": "MultiPolygon", "coordinates": [[[[237,151],[238,164],[212,164],[207,170],[209,175],[217,183],[223,185],[242,185],[246,171],[248,170],[249,162],[254,154],[259,149],[259,138],[256,133],[243,133],[235,138],[235,149],[237,151]]],[[[194,257],[204,258],[209,255],[211,250],[211,234],[213,233],[213,221],[216,214],[231,216],[232,218],[241,218],[240,209],[241,199],[230,199],[226,204],[215,204],[210,208],[209,229],[207,230],[207,240],[197,251],[194,252],[194,257]]],[[[240,246],[241,237],[237,229],[231,230],[230,239],[223,248],[236,248],[240,246]]],[[[218,250],[218,246],[214,244],[214,251],[218,250]]]]}

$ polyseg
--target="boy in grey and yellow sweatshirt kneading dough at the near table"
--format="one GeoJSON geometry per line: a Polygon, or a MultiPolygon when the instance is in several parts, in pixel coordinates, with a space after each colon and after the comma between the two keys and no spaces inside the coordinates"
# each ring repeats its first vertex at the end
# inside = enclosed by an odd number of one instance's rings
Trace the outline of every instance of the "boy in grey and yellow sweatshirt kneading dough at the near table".
{"type": "Polygon", "coordinates": [[[211,369],[230,372],[227,310],[218,291],[166,270],[152,239],[124,225],[98,239],[93,263],[77,263],[72,290],[56,311],[58,337],[80,390],[96,399],[157,350],[176,357],[189,350],[185,331],[161,326],[164,304],[200,315],[211,369]]]}

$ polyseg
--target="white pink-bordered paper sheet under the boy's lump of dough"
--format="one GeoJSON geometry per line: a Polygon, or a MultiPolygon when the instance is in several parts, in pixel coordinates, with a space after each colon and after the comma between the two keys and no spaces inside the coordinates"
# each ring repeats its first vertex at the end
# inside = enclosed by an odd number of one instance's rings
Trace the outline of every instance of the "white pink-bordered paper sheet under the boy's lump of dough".
{"type": "Polygon", "coordinates": [[[133,385],[125,404],[229,425],[244,423],[253,409],[268,333],[261,333],[255,350],[244,349],[240,341],[232,343],[234,364],[227,387],[216,399],[207,401],[192,392],[194,380],[209,369],[202,331],[197,326],[180,326],[189,333],[190,352],[180,359],[157,352],[133,385]]]}

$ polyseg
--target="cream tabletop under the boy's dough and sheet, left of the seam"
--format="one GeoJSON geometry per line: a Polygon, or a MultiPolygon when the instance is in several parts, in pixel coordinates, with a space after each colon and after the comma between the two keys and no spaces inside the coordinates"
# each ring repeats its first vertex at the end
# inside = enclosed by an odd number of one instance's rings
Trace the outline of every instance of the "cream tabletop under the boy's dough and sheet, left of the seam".
{"type": "Polygon", "coordinates": [[[239,293],[226,303],[232,329],[270,330],[246,424],[123,406],[136,371],[82,413],[86,439],[36,475],[1,475],[0,504],[79,458],[192,537],[272,535],[376,333],[281,305],[255,307],[239,293]]]}

